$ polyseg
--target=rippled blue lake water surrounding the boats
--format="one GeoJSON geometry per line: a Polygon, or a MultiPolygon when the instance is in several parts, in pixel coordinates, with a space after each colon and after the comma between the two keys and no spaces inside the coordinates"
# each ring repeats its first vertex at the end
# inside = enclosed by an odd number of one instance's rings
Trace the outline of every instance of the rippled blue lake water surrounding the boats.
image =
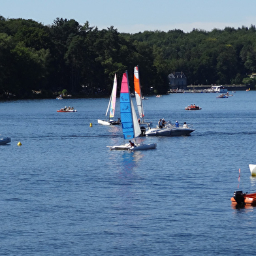
{"type": "Polygon", "coordinates": [[[157,149],[142,152],[106,148],[123,142],[121,127],[97,124],[108,99],[1,102],[12,142],[0,146],[0,255],[254,255],[256,208],[230,199],[239,168],[239,189],[256,191],[255,100],[150,97],[148,121],[195,132],[143,138],[157,149]],[[191,103],[202,110],[184,110],[191,103]],[[57,113],[63,106],[78,112],[57,113]]]}

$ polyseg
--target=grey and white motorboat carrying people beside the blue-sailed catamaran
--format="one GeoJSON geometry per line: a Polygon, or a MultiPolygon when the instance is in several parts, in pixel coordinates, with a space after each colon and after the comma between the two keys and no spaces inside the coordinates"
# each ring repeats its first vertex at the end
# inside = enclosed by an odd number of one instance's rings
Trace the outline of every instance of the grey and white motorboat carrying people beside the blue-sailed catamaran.
{"type": "Polygon", "coordinates": [[[190,135],[195,129],[189,128],[187,125],[183,127],[175,127],[175,125],[167,124],[163,128],[150,128],[145,132],[146,136],[187,136],[190,135]]]}

